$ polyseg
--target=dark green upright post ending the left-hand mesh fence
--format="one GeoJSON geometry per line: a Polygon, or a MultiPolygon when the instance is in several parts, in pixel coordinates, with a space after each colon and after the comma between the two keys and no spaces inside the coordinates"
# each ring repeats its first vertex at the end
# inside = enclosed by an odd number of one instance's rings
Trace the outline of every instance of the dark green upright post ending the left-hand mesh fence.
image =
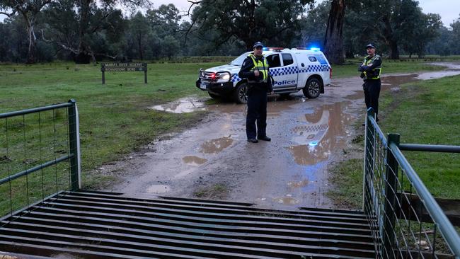
{"type": "Polygon", "coordinates": [[[76,101],[69,107],[69,151],[73,156],[70,159],[70,181],[71,190],[81,188],[81,167],[80,167],[80,137],[79,137],[79,113],[76,108],[76,101]]]}

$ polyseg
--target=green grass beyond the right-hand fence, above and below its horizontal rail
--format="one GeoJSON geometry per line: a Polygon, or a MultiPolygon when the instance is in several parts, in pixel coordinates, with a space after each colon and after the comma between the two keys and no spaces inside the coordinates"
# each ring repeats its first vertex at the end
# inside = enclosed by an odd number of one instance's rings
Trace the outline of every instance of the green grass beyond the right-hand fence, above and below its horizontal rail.
{"type": "MultiPolygon", "coordinates": [[[[401,134],[401,143],[460,146],[460,76],[406,85],[391,99],[381,124],[401,134]]],[[[385,107],[384,107],[385,109],[385,107]]],[[[405,151],[406,158],[435,197],[460,199],[460,155],[405,151]]]]}

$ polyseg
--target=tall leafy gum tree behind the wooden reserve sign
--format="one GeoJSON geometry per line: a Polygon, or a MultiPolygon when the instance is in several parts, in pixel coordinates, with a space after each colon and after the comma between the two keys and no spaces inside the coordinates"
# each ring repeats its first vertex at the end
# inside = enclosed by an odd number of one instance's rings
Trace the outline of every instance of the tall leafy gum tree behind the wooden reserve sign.
{"type": "Polygon", "coordinates": [[[51,31],[47,40],[71,52],[76,63],[95,61],[98,54],[116,58],[116,53],[98,53],[95,48],[105,37],[121,38],[127,26],[122,9],[134,11],[148,6],[149,0],[58,1],[50,5],[47,13],[51,31]]]}

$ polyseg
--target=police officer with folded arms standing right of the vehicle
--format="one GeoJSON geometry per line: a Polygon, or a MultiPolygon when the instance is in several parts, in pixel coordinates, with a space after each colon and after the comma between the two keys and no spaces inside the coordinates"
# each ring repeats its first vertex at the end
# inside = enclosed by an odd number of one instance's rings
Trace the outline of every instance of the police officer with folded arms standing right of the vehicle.
{"type": "Polygon", "coordinates": [[[358,67],[361,72],[361,78],[364,80],[362,88],[364,89],[364,100],[366,107],[372,107],[375,111],[376,121],[379,121],[377,113],[379,113],[379,96],[380,96],[380,74],[381,74],[381,57],[375,54],[375,46],[368,44],[366,46],[367,56],[364,57],[364,62],[358,67]]]}

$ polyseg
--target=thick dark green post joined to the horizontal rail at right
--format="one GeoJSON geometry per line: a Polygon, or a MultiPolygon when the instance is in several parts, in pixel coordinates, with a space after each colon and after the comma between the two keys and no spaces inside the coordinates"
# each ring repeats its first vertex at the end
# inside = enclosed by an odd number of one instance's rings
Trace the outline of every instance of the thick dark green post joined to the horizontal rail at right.
{"type": "Polygon", "coordinates": [[[393,243],[395,241],[395,222],[396,222],[396,199],[398,191],[398,161],[393,156],[389,146],[396,144],[399,146],[399,134],[389,134],[388,146],[386,146],[386,170],[385,170],[385,189],[384,189],[384,222],[381,233],[384,258],[394,258],[393,243]]]}

